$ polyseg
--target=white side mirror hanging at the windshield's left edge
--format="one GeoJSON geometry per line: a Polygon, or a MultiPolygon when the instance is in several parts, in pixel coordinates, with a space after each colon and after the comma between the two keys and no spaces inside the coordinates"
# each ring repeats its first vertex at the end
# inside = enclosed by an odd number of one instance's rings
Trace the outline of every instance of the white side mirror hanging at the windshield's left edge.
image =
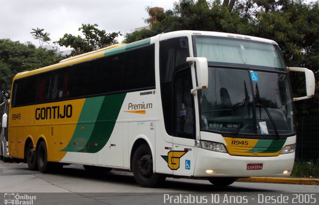
{"type": "Polygon", "coordinates": [[[198,86],[191,89],[190,93],[195,95],[196,90],[208,88],[208,62],[206,57],[187,57],[186,61],[190,64],[196,62],[196,75],[198,86]]]}

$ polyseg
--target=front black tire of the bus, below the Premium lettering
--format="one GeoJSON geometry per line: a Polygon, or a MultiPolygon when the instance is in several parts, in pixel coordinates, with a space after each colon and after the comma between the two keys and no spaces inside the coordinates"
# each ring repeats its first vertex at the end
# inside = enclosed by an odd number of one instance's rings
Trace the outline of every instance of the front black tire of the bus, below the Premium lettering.
{"type": "Polygon", "coordinates": [[[156,187],[165,181],[165,176],[153,172],[153,157],[148,144],[138,147],[132,163],[134,178],[142,187],[156,187]]]}

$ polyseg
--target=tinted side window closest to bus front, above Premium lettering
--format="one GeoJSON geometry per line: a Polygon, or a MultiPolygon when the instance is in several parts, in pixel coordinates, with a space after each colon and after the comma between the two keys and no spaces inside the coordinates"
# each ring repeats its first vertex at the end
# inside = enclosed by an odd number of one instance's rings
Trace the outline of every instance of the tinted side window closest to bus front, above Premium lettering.
{"type": "Polygon", "coordinates": [[[155,86],[154,45],[125,53],[122,90],[155,86]]]}

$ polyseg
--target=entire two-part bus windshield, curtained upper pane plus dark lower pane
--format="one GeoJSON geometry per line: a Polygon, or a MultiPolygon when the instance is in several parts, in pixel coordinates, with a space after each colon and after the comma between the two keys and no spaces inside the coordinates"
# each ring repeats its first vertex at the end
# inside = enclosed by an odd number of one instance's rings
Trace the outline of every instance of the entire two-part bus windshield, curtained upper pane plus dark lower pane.
{"type": "Polygon", "coordinates": [[[208,88],[198,92],[202,130],[235,136],[258,134],[277,137],[295,132],[288,75],[276,72],[285,68],[276,46],[264,43],[258,45],[255,41],[246,43],[223,40],[224,48],[220,41],[214,47],[216,38],[198,39],[194,45],[197,51],[195,56],[207,57],[209,61],[208,88]],[[207,43],[209,39],[212,42],[204,49],[203,42],[207,43]],[[254,48],[244,49],[247,53],[240,53],[238,50],[241,44],[244,48],[248,47],[246,44],[254,48]],[[227,55],[223,53],[226,51],[227,55]],[[228,56],[229,59],[222,56],[228,56]],[[223,66],[216,62],[222,62],[223,66]],[[234,63],[238,68],[233,66],[234,63]],[[263,71],[257,69],[259,66],[269,69],[263,71]]]}

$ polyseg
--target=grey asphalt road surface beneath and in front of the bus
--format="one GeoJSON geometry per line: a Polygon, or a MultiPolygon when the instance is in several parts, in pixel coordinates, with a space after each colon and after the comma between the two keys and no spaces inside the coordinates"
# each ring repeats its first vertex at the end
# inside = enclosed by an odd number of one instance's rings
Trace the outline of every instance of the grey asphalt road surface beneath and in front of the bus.
{"type": "Polygon", "coordinates": [[[219,188],[206,180],[167,178],[164,185],[151,189],[140,187],[129,172],[91,174],[81,165],[69,165],[59,172],[42,174],[29,171],[26,164],[1,161],[0,193],[0,204],[13,197],[18,199],[14,203],[33,205],[319,203],[319,186],[235,182],[219,188]]]}

